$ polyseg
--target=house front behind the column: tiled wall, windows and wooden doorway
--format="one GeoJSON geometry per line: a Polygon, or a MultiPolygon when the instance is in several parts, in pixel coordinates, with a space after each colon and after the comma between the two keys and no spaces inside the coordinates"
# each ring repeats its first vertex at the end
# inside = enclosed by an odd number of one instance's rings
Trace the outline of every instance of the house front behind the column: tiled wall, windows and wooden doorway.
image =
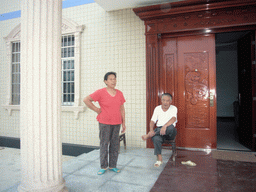
{"type": "MultiPolygon", "coordinates": [[[[0,136],[2,140],[17,139],[20,133],[19,53],[22,49],[19,43],[20,5],[19,1],[12,3],[6,1],[6,4],[8,6],[1,7],[0,22],[2,37],[0,39],[2,63],[0,136]]],[[[249,57],[251,59],[248,63],[253,64],[255,62],[254,12],[255,2],[252,0],[230,0],[225,3],[215,0],[208,3],[199,0],[173,1],[117,11],[106,11],[98,3],[90,0],[80,1],[78,4],[63,1],[62,62],[60,64],[63,77],[61,83],[62,142],[82,146],[99,145],[96,114],[83,104],[82,99],[104,87],[104,74],[115,71],[118,80],[117,88],[123,91],[126,98],[128,146],[152,147],[150,141],[146,144],[141,140],[141,135],[148,131],[151,114],[154,107],[160,104],[161,93],[170,92],[174,95],[174,104],[179,109],[177,126],[182,136],[177,139],[178,146],[215,149],[217,147],[216,118],[219,114],[233,116],[231,104],[236,96],[234,94],[225,96],[230,93],[230,90],[227,91],[228,93],[223,90],[223,93],[217,95],[216,79],[219,79],[222,73],[216,70],[216,56],[217,61],[220,60],[218,62],[225,60],[223,65],[231,62],[232,59],[226,52],[221,52],[225,56],[218,57],[215,53],[218,45],[215,45],[214,41],[217,33],[250,32],[252,40],[249,43],[251,44],[249,57]],[[206,36],[212,38],[201,41],[202,44],[208,45],[205,47],[206,50],[202,49],[198,52],[198,49],[191,49],[182,52],[188,41],[191,46],[187,47],[202,47],[200,43],[195,46],[195,42],[198,38],[202,39],[206,36]],[[168,46],[165,47],[165,45],[168,46]],[[179,47],[183,48],[179,49],[179,47]],[[211,50],[207,50],[209,47],[211,50]],[[191,54],[191,52],[197,54],[191,54]],[[184,53],[186,57],[182,54],[178,55],[179,53],[184,53]],[[188,60],[193,62],[186,63],[188,60]],[[209,65],[206,68],[200,68],[204,63],[209,65]],[[209,73],[203,74],[202,70],[209,73]],[[217,98],[221,97],[224,99],[218,106],[221,100],[217,102],[217,98]],[[227,102],[229,105],[226,105],[227,102]],[[227,107],[229,110],[224,109],[227,107]],[[194,143],[194,141],[200,142],[194,143]]],[[[231,54],[236,57],[237,51],[231,54]]],[[[237,62],[235,60],[233,59],[232,63],[237,62]]],[[[234,69],[232,63],[230,66],[234,69]]],[[[255,65],[251,64],[249,71],[252,83],[255,82],[253,80],[255,65]]],[[[241,71],[244,70],[241,69],[241,71]]],[[[251,92],[242,97],[247,101],[250,100],[250,103],[243,106],[243,121],[248,122],[246,117],[250,116],[249,121],[253,125],[249,125],[250,129],[243,128],[240,133],[246,133],[243,140],[249,138],[250,148],[255,146],[255,121],[252,121],[255,116],[254,86],[250,84],[249,88],[246,87],[245,90],[249,89],[251,92]]],[[[231,91],[234,89],[232,88],[231,91]]]]}

